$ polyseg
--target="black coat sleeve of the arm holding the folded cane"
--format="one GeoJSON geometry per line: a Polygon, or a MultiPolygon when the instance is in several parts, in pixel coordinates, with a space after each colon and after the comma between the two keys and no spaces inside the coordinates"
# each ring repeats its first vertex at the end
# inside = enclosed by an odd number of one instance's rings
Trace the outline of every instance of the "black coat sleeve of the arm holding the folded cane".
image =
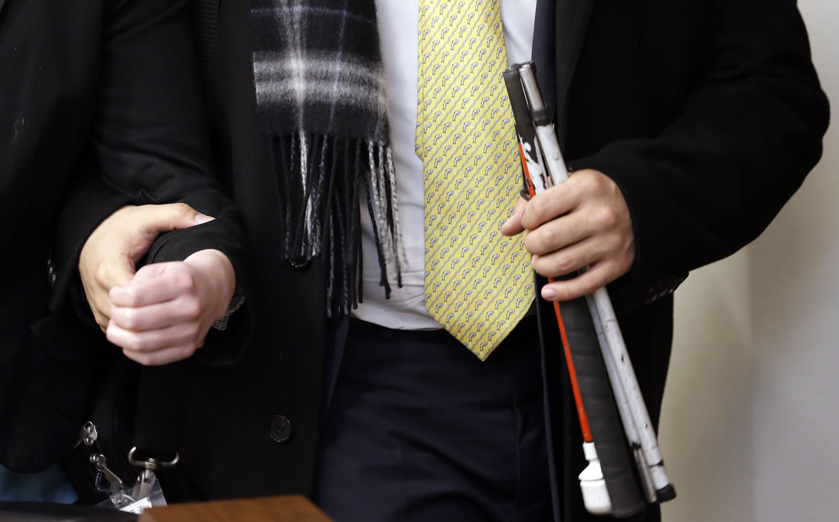
{"type": "Polygon", "coordinates": [[[628,202],[628,308],[757,238],[821,156],[827,100],[795,2],[712,5],[709,49],[680,115],[655,138],[571,162],[609,175],[628,202]]]}

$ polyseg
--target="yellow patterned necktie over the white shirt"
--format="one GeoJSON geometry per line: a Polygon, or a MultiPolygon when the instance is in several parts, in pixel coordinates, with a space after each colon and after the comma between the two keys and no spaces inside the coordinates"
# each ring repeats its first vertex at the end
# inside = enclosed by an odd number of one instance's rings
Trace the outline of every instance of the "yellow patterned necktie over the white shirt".
{"type": "Polygon", "coordinates": [[[499,0],[420,0],[416,150],[425,175],[425,307],[478,358],[534,299],[521,236],[518,140],[503,86],[499,0]]]}

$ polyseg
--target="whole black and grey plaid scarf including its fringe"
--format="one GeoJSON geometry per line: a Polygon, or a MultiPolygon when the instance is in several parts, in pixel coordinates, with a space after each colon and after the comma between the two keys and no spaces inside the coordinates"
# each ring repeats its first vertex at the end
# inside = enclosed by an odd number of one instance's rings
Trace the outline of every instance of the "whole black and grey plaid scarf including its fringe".
{"type": "Polygon", "coordinates": [[[362,300],[361,211],[401,286],[396,178],[373,0],[253,0],[253,77],[284,201],[285,256],[327,258],[327,315],[362,300]],[[365,195],[362,201],[362,193],[365,195]]]}

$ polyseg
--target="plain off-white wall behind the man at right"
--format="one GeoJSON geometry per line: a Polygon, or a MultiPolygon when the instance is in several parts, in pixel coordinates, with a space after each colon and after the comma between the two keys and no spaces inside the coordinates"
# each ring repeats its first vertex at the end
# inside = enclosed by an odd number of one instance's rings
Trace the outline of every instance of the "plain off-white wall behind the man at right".
{"type": "MultiPolygon", "coordinates": [[[[839,1],[799,8],[839,113],[839,1]]],[[[763,236],[676,293],[660,442],[679,497],[667,522],[839,520],[837,198],[835,121],[763,236]]]]}

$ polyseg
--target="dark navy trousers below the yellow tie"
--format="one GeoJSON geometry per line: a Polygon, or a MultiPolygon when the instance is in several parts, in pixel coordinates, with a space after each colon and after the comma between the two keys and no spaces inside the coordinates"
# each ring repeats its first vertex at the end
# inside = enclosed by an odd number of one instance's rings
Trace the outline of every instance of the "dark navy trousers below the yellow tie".
{"type": "Polygon", "coordinates": [[[482,362],[445,331],[351,321],[315,502],[342,521],[551,519],[535,317],[482,362]]]}

